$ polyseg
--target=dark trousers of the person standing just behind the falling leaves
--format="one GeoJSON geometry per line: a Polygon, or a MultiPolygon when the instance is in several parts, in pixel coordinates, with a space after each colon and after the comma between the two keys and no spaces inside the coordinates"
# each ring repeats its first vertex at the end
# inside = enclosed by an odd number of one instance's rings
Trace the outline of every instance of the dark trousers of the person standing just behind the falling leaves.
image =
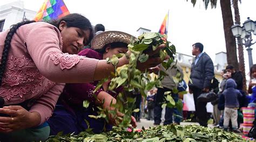
{"type": "MultiPolygon", "coordinates": [[[[154,106],[154,124],[157,124],[157,125],[159,125],[161,123],[161,112],[163,110],[161,105],[166,102],[165,95],[164,95],[164,93],[166,91],[172,91],[172,90],[168,89],[168,88],[165,88],[165,87],[164,88],[158,88],[157,89],[157,94],[155,96],[155,100],[154,100],[155,101],[155,106],[154,106]]],[[[173,100],[175,102],[178,101],[178,95],[177,94],[172,94],[172,97],[173,97],[173,100]]],[[[179,115],[179,116],[181,115],[181,112],[178,112],[177,108],[169,108],[169,107],[166,106],[166,108],[165,108],[165,121],[164,121],[164,125],[168,125],[168,124],[172,123],[173,112],[176,112],[177,113],[176,115],[179,115]]],[[[175,119],[175,120],[177,120],[177,119],[175,119]]],[[[180,122],[180,119],[179,119],[179,122],[180,122]]],[[[177,123],[179,123],[179,122],[177,122],[177,123]]]]}

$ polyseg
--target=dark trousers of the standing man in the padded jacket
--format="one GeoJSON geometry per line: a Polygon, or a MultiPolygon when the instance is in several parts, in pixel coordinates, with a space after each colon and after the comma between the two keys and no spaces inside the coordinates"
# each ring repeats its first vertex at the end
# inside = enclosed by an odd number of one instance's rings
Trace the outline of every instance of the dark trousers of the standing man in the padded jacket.
{"type": "Polygon", "coordinates": [[[196,108],[196,116],[199,119],[199,124],[201,126],[207,126],[207,111],[205,102],[198,102],[197,97],[203,93],[203,91],[199,88],[191,88],[194,96],[194,106],[196,108]]]}

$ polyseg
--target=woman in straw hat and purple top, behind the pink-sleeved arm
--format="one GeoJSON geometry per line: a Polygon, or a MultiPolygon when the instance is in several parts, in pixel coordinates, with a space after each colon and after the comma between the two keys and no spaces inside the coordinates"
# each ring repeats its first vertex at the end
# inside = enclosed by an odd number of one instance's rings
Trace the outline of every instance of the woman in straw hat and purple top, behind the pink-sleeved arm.
{"type": "MultiPolygon", "coordinates": [[[[78,55],[87,56],[88,58],[95,58],[105,60],[111,58],[114,54],[126,53],[127,45],[130,43],[132,36],[130,34],[119,31],[107,31],[98,34],[92,39],[92,49],[84,49],[78,55]]],[[[60,97],[56,110],[53,112],[52,117],[48,120],[51,127],[50,135],[56,135],[58,132],[63,131],[64,134],[76,134],[86,130],[92,129],[93,132],[99,133],[104,130],[111,130],[114,123],[114,118],[110,118],[110,124],[107,124],[105,119],[90,118],[89,115],[97,116],[97,105],[101,104],[104,100],[103,108],[111,109],[110,103],[116,102],[114,97],[122,91],[122,88],[117,88],[112,91],[107,91],[108,82],[103,84],[95,94],[98,81],[92,83],[72,83],[66,84],[64,91],[60,97]],[[95,96],[97,96],[97,100],[95,96]],[[89,100],[90,106],[83,107],[83,101],[89,100]],[[85,121],[86,119],[86,121],[85,121]],[[87,124],[89,123],[89,124],[87,124]]],[[[122,113],[118,113],[122,116],[122,113]]],[[[136,127],[136,120],[132,117],[131,124],[136,127]]]]}

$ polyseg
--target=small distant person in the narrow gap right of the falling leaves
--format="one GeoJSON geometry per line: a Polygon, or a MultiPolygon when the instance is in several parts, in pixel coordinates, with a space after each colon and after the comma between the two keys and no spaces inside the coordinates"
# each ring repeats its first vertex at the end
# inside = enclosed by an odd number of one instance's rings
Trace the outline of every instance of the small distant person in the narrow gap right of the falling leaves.
{"type": "Polygon", "coordinates": [[[154,90],[150,90],[150,94],[147,96],[147,120],[154,119],[154,90]]]}

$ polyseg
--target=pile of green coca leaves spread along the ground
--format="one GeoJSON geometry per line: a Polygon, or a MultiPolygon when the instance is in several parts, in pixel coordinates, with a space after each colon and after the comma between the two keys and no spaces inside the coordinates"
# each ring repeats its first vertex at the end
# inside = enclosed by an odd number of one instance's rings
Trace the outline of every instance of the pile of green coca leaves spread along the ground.
{"type": "Polygon", "coordinates": [[[51,136],[47,141],[245,141],[238,134],[198,125],[166,125],[142,130],[113,127],[100,134],[81,132],[78,135],[51,136]]]}

